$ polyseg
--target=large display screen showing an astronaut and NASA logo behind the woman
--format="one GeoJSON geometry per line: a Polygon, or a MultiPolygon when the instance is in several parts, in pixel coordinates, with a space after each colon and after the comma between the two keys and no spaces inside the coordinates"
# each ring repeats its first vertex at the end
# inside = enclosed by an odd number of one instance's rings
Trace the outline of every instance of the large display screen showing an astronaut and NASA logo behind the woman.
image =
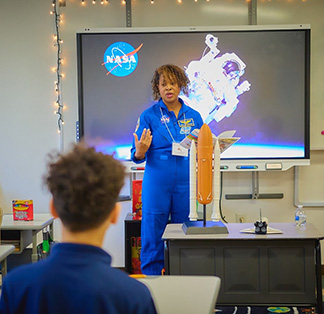
{"type": "Polygon", "coordinates": [[[98,150],[130,158],[153,73],[171,63],[212,133],[240,137],[222,161],[309,160],[308,26],[86,30],[77,43],[80,134],[98,150]]]}

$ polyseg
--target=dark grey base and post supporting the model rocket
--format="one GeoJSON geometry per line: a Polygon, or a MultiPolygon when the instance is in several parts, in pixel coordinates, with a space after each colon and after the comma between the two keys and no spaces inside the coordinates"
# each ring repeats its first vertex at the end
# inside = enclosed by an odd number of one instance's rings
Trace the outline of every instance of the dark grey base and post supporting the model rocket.
{"type": "Polygon", "coordinates": [[[206,205],[203,205],[203,220],[185,221],[182,230],[185,234],[227,234],[228,230],[222,221],[206,221],[206,205]]]}

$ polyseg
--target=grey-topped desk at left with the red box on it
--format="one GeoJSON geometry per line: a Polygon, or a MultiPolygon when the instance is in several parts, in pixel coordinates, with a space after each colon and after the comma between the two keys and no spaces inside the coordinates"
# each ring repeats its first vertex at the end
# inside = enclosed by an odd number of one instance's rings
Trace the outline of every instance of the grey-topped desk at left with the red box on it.
{"type": "Polygon", "coordinates": [[[1,243],[13,244],[15,253],[21,253],[28,245],[32,247],[32,262],[37,262],[37,233],[47,226],[53,236],[54,218],[49,214],[35,214],[33,221],[13,220],[13,215],[3,215],[1,225],[1,243]]]}

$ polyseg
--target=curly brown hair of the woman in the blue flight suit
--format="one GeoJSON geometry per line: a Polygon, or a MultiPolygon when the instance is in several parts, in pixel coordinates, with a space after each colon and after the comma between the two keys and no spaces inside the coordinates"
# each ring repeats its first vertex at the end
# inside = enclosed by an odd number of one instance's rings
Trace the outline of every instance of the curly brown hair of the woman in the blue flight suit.
{"type": "Polygon", "coordinates": [[[177,82],[177,84],[180,87],[180,90],[185,95],[188,95],[188,84],[190,83],[190,81],[185,71],[176,65],[165,64],[155,70],[151,81],[154,100],[158,100],[161,97],[159,91],[159,81],[162,75],[170,81],[177,82]]]}

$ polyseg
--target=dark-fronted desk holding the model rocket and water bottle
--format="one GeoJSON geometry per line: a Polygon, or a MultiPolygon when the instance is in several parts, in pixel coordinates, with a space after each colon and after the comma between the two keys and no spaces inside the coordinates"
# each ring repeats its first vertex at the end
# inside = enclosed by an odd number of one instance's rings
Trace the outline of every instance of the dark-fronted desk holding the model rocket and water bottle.
{"type": "Polygon", "coordinates": [[[165,240],[169,275],[213,275],[221,281],[220,305],[317,305],[322,308],[323,233],[307,223],[270,223],[283,234],[244,234],[251,224],[227,224],[228,234],[185,235],[170,224],[165,240]]]}

